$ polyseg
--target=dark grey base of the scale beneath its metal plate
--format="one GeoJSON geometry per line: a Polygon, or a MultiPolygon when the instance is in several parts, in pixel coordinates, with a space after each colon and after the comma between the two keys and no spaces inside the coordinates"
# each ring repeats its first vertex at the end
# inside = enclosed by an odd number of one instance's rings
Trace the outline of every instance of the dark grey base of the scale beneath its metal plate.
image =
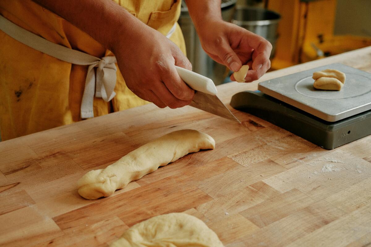
{"type": "Polygon", "coordinates": [[[325,149],[333,149],[371,134],[371,110],[328,122],[260,91],[237,93],[230,105],[325,149]]]}

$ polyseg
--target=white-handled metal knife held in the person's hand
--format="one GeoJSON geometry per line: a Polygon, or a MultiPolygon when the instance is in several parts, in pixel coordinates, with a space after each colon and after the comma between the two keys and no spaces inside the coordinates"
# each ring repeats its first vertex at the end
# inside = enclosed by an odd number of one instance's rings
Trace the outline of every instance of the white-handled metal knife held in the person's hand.
{"type": "Polygon", "coordinates": [[[213,80],[182,67],[175,68],[180,78],[196,90],[190,106],[241,123],[216,96],[217,89],[213,80]]]}

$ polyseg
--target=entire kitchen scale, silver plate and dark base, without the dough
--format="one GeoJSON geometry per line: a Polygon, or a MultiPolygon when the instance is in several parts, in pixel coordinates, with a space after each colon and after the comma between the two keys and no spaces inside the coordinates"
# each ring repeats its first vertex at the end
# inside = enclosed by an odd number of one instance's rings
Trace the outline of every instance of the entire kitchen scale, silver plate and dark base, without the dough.
{"type": "Polygon", "coordinates": [[[343,64],[263,81],[257,91],[235,94],[230,104],[326,149],[371,134],[371,74],[343,64]],[[313,87],[313,72],[325,69],[345,73],[340,91],[313,87]]]}

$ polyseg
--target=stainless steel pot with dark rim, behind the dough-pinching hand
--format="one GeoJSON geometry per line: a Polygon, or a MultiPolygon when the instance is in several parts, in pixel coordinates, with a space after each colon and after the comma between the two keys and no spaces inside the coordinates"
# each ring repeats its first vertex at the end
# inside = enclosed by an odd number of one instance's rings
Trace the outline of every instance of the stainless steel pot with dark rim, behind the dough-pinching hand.
{"type": "Polygon", "coordinates": [[[281,16],[270,10],[238,7],[234,13],[232,23],[243,27],[268,40],[272,46],[272,58],[275,54],[276,40],[278,38],[277,27],[281,16]]]}

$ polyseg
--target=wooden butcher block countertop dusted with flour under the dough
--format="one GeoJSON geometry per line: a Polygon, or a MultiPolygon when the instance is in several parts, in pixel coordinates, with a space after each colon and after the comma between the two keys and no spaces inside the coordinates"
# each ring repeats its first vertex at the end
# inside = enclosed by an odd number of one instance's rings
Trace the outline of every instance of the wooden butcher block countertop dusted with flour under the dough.
{"type": "MultiPolygon", "coordinates": [[[[342,63],[371,72],[371,47],[265,74],[259,81],[342,63]]],[[[153,104],[0,143],[0,246],[108,246],[134,224],[185,212],[225,246],[371,244],[371,136],[325,150],[229,106],[254,83],[218,96],[242,122],[153,104]],[[210,134],[188,154],[108,198],[85,200],[76,181],[180,129],[210,134]]],[[[371,127],[371,126],[370,126],[371,127]]]]}

